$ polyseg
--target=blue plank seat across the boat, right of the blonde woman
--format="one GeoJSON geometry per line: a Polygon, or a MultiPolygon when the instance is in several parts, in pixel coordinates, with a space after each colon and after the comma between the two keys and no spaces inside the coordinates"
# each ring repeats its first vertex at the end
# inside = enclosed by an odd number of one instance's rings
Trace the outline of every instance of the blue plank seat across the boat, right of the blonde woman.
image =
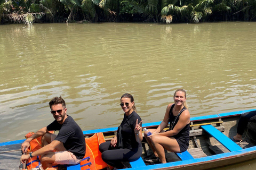
{"type": "Polygon", "coordinates": [[[218,140],[223,146],[225,146],[229,151],[237,151],[242,148],[239,147],[234,141],[229,139],[225,134],[221,133],[218,129],[214,128],[212,125],[202,125],[201,128],[207,133],[212,135],[213,138],[218,140]]]}

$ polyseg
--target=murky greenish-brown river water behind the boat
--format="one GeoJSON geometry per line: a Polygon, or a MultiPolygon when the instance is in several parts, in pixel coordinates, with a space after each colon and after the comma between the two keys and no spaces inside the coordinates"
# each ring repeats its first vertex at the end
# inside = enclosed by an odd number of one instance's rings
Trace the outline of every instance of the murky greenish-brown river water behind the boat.
{"type": "Polygon", "coordinates": [[[178,88],[187,91],[191,117],[255,109],[255,28],[256,22],[0,25],[0,142],[51,123],[48,103],[60,95],[83,130],[118,126],[126,92],[143,123],[161,121],[178,88]]]}

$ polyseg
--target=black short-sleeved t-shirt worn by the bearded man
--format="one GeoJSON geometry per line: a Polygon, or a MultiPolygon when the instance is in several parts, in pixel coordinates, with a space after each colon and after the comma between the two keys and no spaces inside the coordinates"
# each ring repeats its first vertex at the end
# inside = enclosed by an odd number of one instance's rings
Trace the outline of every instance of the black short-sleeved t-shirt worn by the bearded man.
{"type": "MultiPolygon", "coordinates": [[[[68,115],[67,115],[68,116],[68,115]]],[[[59,124],[56,120],[47,127],[49,131],[59,131],[54,140],[63,142],[64,147],[72,152],[77,159],[83,159],[85,155],[84,134],[78,124],[71,116],[68,116],[63,124],[59,124]]]]}

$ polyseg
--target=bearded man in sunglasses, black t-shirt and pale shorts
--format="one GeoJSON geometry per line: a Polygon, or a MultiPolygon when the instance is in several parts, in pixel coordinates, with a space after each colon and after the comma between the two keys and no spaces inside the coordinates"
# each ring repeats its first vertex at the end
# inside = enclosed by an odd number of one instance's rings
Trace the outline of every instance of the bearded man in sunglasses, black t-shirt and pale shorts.
{"type": "Polygon", "coordinates": [[[55,120],[48,126],[40,129],[21,145],[21,150],[25,152],[29,147],[29,142],[42,136],[42,148],[22,155],[20,162],[23,164],[30,157],[41,155],[43,169],[52,167],[52,164],[78,164],[85,155],[84,134],[73,118],[67,115],[65,101],[60,97],[54,97],[50,103],[51,113],[55,120]],[[49,131],[59,130],[58,135],[49,131]],[[53,150],[57,152],[53,152],[53,150]]]}

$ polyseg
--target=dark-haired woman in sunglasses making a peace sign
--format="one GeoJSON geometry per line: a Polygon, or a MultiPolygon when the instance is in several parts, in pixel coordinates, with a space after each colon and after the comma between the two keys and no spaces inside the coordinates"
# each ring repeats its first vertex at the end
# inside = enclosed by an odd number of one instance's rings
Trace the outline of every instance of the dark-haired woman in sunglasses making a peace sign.
{"type": "Polygon", "coordinates": [[[136,113],[132,95],[124,94],[120,105],[124,111],[124,118],[118,127],[117,136],[99,146],[102,159],[115,169],[126,168],[123,161],[137,160],[142,154],[142,120],[136,113]],[[123,146],[121,146],[121,139],[117,137],[121,137],[123,146]]]}

